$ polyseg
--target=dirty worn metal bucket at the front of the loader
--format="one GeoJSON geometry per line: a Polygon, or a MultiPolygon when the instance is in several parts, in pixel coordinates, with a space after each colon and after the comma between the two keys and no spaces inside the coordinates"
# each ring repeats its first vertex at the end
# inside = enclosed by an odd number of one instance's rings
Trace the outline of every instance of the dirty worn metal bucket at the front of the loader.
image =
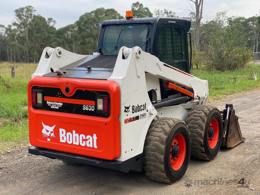
{"type": "Polygon", "coordinates": [[[226,109],[221,113],[223,119],[223,137],[221,146],[233,148],[240,142],[245,141],[239,127],[238,116],[235,115],[235,110],[232,104],[226,104],[226,109]]]}

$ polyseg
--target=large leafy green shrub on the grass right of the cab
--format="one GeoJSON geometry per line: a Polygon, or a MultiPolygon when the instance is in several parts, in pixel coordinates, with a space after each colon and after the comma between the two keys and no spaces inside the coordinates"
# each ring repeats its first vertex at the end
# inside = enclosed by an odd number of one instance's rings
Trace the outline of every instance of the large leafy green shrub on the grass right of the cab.
{"type": "Polygon", "coordinates": [[[244,35],[231,27],[212,26],[206,66],[221,71],[243,68],[251,60],[251,50],[245,46],[244,35]]]}

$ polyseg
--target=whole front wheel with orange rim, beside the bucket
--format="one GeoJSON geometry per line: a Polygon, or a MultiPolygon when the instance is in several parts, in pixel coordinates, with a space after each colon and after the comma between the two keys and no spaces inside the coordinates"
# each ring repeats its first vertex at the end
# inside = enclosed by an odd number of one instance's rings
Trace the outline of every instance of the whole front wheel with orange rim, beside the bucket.
{"type": "Polygon", "coordinates": [[[191,157],[201,160],[215,158],[223,135],[222,117],[217,107],[194,106],[188,114],[186,124],[191,135],[191,157]]]}

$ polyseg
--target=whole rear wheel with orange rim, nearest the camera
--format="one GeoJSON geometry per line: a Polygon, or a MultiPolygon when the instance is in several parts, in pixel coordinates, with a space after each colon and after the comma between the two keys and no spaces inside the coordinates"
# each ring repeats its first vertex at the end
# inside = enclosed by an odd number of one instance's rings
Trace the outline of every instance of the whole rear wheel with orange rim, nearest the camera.
{"type": "Polygon", "coordinates": [[[145,173],[154,181],[172,184],[185,174],[190,152],[190,133],[185,122],[159,118],[150,125],[145,139],[145,173]]]}

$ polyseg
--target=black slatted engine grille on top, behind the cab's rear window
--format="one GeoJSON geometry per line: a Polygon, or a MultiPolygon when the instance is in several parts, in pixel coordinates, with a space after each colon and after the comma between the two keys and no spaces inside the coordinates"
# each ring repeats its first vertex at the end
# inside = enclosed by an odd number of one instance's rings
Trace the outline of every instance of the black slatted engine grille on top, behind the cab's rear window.
{"type": "Polygon", "coordinates": [[[97,55],[93,59],[80,64],[77,66],[78,68],[114,68],[116,63],[117,56],[105,56],[105,55],[97,55]]]}

